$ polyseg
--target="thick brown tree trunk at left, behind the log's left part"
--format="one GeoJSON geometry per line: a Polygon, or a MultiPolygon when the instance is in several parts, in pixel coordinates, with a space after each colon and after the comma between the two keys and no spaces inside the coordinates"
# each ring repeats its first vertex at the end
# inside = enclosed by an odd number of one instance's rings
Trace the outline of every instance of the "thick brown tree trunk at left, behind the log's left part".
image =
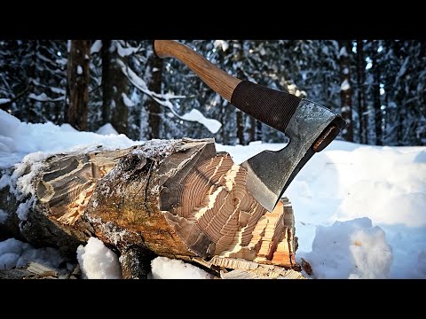
{"type": "Polygon", "coordinates": [[[67,65],[65,121],[78,130],[87,129],[91,40],[71,40],[67,65]]]}

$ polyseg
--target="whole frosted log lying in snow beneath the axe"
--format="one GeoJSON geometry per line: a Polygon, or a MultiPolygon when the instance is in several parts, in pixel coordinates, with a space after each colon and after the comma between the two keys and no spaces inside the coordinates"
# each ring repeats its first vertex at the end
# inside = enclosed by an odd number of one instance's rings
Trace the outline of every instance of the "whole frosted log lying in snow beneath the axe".
{"type": "Polygon", "coordinates": [[[31,198],[0,190],[8,214],[0,230],[33,245],[75,255],[99,237],[121,256],[124,277],[145,276],[138,261],[155,255],[213,268],[298,268],[288,200],[267,212],[246,190],[246,171],[216,152],[213,139],[57,154],[28,171],[31,198]],[[34,203],[21,221],[15,212],[25,200],[34,203]]]}

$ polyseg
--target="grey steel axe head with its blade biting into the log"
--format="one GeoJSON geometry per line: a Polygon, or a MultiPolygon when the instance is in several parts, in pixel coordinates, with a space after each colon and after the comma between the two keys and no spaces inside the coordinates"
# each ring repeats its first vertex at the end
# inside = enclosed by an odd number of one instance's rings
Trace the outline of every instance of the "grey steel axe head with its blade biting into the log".
{"type": "Polygon", "coordinates": [[[241,163],[248,173],[246,185],[250,194],[272,212],[304,164],[330,144],[345,124],[340,115],[302,99],[288,122],[286,147],[277,152],[260,152],[241,163]]]}

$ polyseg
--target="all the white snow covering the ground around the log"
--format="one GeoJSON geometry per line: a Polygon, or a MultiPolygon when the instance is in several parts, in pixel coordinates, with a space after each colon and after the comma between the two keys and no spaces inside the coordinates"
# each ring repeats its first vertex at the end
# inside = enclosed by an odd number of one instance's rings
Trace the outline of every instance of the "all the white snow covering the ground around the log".
{"type": "MultiPolygon", "coordinates": [[[[141,143],[117,135],[109,127],[99,133],[104,135],[77,132],[67,125],[26,124],[0,110],[0,169],[20,161],[43,159],[54,152],[89,151],[99,145],[103,149],[124,148],[141,143]]],[[[217,144],[217,151],[229,152],[234,161],[241,163],[258,152],[284,146],[217,144]]],[[[15,178],[17,187],[23,184],[18,183],[20,175],[15,178]]],[[[9,182],[0,179],[0,188],[9,182]]],[[[296,258],[309,261],[316,277],[426,278],[426,147],[334,141],[313,156],[285,196],[292,202],[296,216],[296,258]]],[[[0,222],[3,219],[4,212],[0,212],[0,222]]],[[[11,240],[0,243],[0,264],[7,261],[9,268],[30,249],[25,246],[13,250],[12,244],[21,245],[11,240]],[[15,255],[5,256],[11,252],[15,255]]],[[[96,241],[89,244],[85,251],[80,248],[81,266],[85,261],[92,265],[102,259],[105,264],[117,262],[96,241]]],[[[158,259],[152,265],[154,278],[207,276],[183,262],[158,259]]],[[[104,271],[92,269],[98,275],[104,271]]],[[[117,277],[115,268],[111,269],[107,273],[117,277]]]]}

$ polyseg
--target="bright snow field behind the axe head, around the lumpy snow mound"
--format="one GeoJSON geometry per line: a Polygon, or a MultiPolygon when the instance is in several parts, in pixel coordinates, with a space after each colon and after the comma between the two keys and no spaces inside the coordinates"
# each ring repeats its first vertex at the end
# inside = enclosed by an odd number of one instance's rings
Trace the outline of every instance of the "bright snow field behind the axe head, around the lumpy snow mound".
{"type": "MultiPolygon", "coordinates": [[[[217,144],[217,151],[230,152],[241,163],[284,146],[217,144]]],[[[305,256],[321,225],[367,217],[384,231],[391,247],[390,278],[426,278],[426,147],[334,141],[310,159],[284,196],[295,211],[299,261],[309,261],[305,256]]]]}

